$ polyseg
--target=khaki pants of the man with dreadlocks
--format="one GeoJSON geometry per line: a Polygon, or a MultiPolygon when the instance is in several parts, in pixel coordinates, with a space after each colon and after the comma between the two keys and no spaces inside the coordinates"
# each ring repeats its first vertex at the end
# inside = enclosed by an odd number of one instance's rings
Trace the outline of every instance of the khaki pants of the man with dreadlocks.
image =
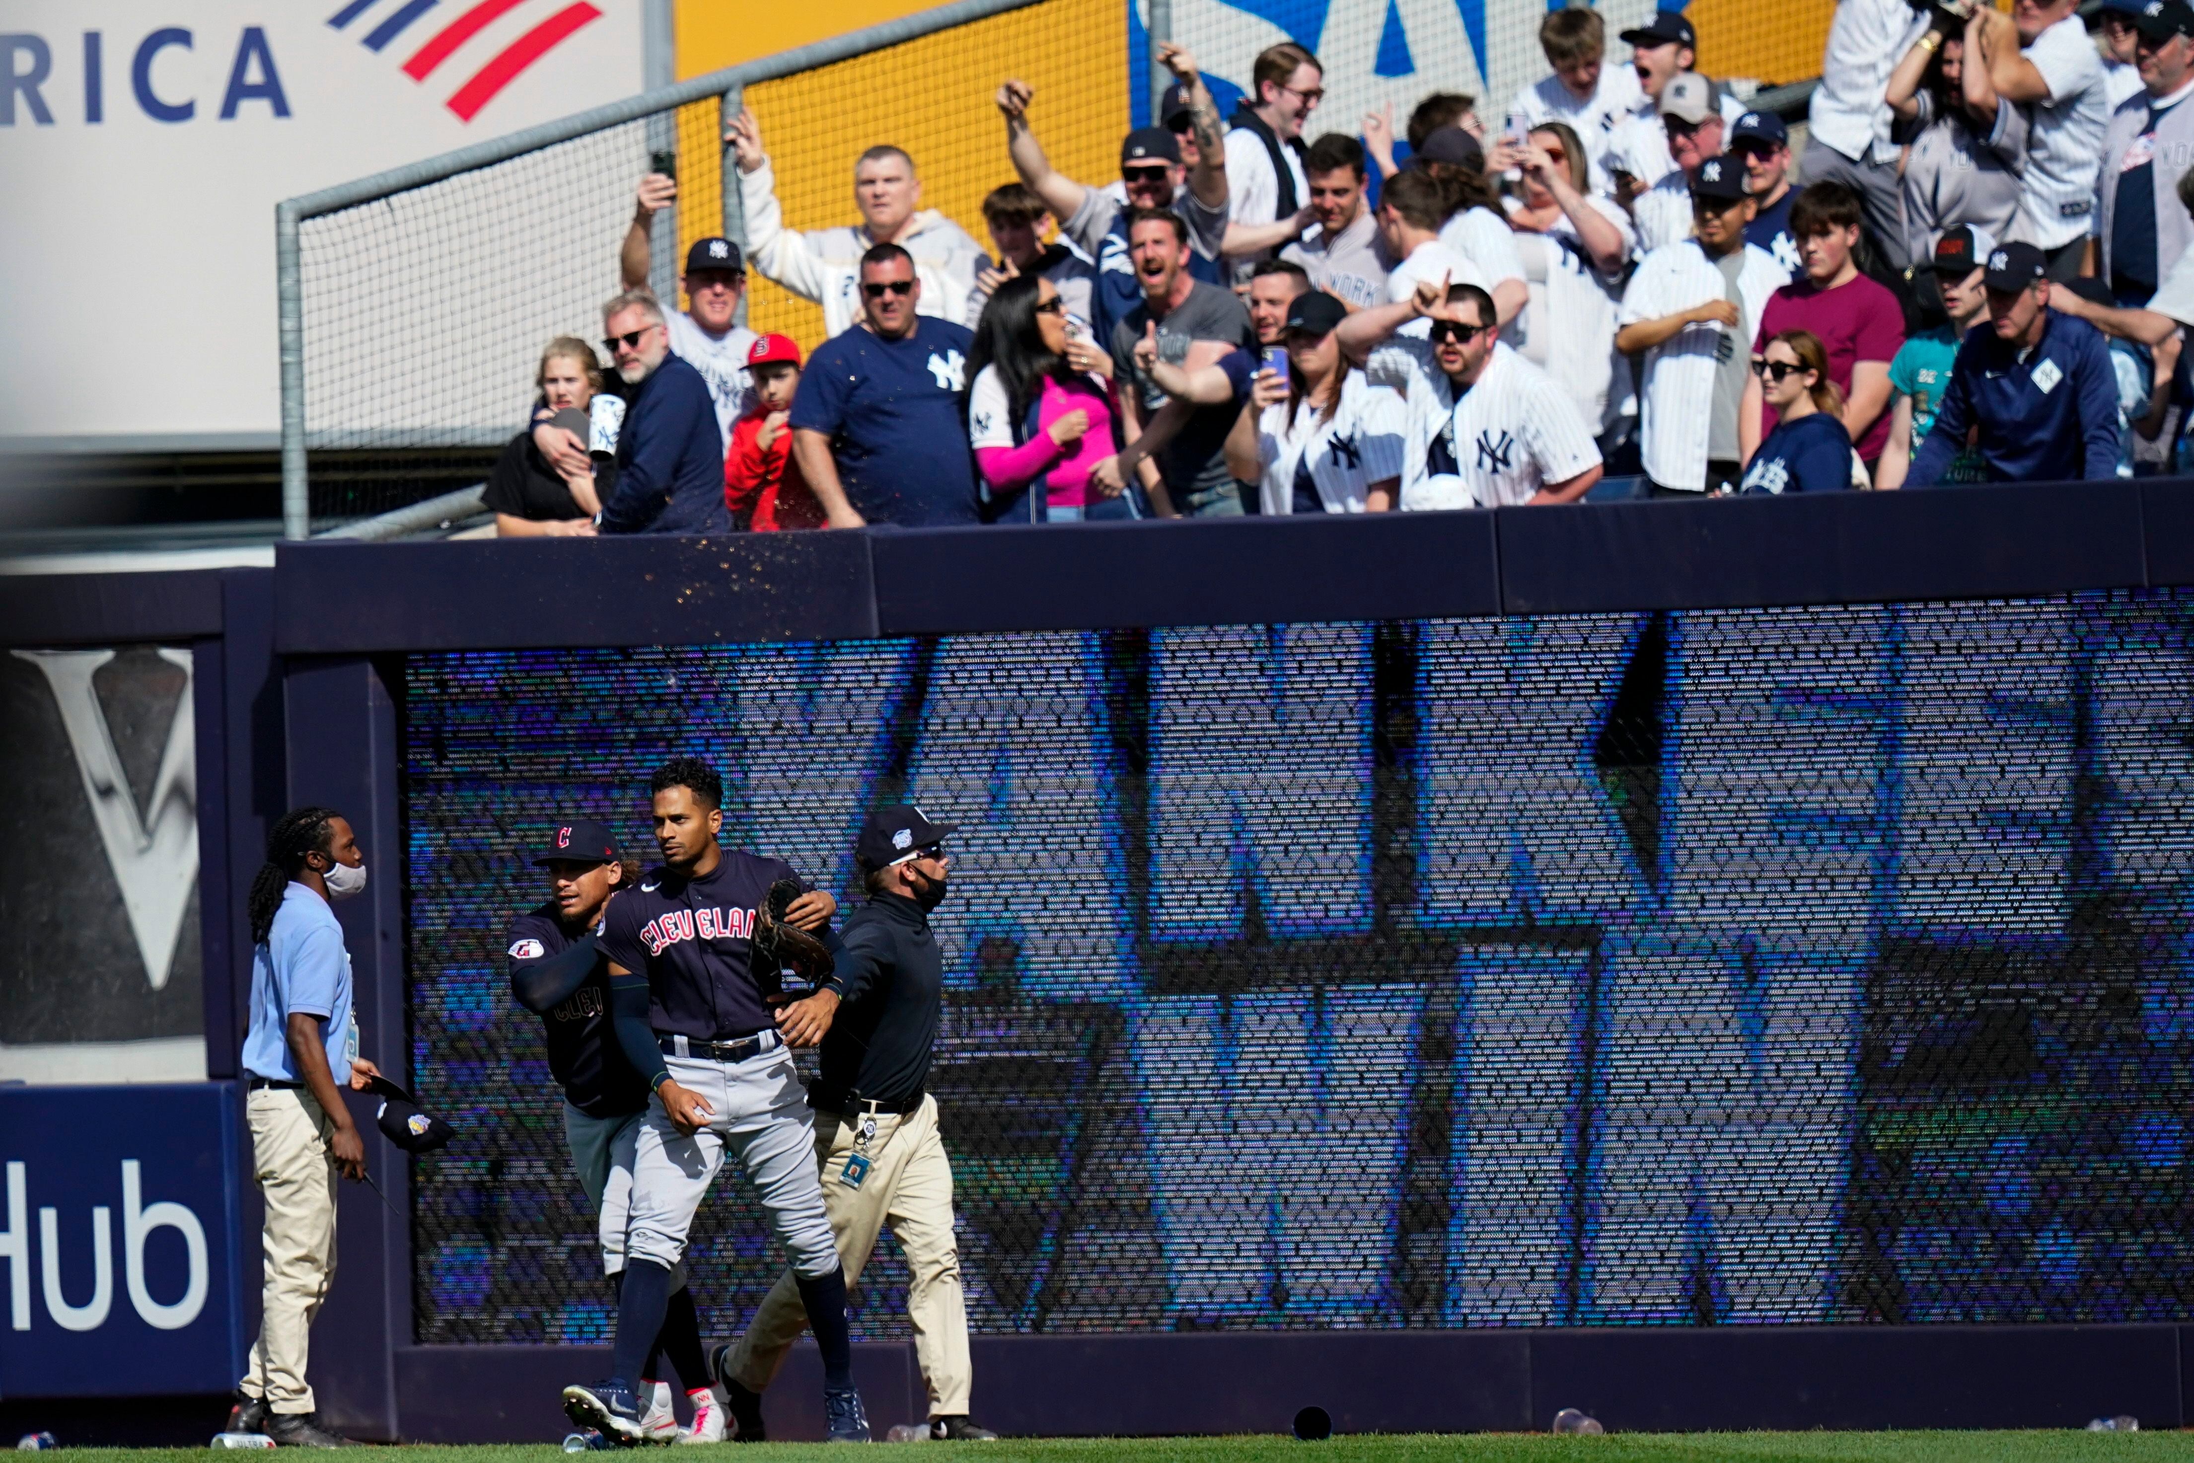
{"type": "Polygon", "coordinates": [[[261,1088],[244,1110],[268,1215],[259,1340],[241,1386],[274,1413],[309,1413],[305,1349],[336,1279],[336,1156],[327,1147],[336,1125],[303,1088],[261,1088]]]}

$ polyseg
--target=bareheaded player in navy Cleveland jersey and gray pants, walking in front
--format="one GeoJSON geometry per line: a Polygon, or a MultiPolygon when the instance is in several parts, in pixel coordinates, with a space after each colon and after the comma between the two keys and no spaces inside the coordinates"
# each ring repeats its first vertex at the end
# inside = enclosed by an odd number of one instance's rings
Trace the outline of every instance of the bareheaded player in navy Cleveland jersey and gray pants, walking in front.
{"type": "Polygon", "coordinates": [[[845,1270],[810,1160],[814,1119],[770,1011],[779,972],[774,963],[757,969],[750,959],[755,937],[770,934],[774,886],[801,891],[783,917],[803,930],[825,926],[836,899],[810,891],[781,860],[717,844],[724,783],[704,763],[671,759],[649,790],[663,864],[610,901],[601,952],[619,1046],[654,1099],[634,1141],[614,1369],[606,1382],[566,1386],[564,1410],[623,1443],[645,1437],[632,1377],[643,1373],[663,1329],[671,1272],[728,1147],[792,1257],[823,1351],[829,1437],[867,1441],[869,1419],[853,1391],[845,1270]]]}

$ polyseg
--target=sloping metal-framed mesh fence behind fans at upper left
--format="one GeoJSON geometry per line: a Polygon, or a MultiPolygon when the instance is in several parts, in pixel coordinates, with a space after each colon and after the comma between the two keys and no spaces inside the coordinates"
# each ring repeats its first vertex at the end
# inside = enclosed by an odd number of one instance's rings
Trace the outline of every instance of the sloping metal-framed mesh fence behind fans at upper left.
{"type": "MultiPolygon", "coordinates": [[[[742,105],[779,158],[788,226],[851,219],[851,165],[878,140],[915,154],[924,206],[979,226],[979,200],[1011,169],[998,77],[968,59],[1011,57],[1058,107],[1053,158],[1104,175],[1128,114],[1126,37],[1106,44],[1104,29],[1123,24],[1115,0],[954,0],[279,204],[285,537],[480,483],[524,421],[540,349],[599,333],[632,186],[656,154],[680,162],[678,206],[654,226],[665,305],[691,239],[746,241],[722,145],[742,105]],[[921,105],[880,105],[893,94],[921,105]],[[842,171],[807,165],[840,154],[842,171]]],[[[821,336],[816,307],[759,274],[748,309],[757,329],[821,336]]]]}

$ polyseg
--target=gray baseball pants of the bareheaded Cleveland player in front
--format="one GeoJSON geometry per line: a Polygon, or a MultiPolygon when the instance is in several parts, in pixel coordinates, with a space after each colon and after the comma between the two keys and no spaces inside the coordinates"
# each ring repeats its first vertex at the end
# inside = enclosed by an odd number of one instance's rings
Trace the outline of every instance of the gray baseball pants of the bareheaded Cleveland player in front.
{"type": "Polygon", "coordinates": [[[814,1160],[814,1119],[807,1092],[783,1046],[744,1062],[665,1057],[671,1079],[709,1103],[709,1125],[687,1136],[663,1114],[663,1099],[647,1103],[632,1154],[632,1213],[625,1252],[676,1270],[687,1230],[724,1149],[735,1149],[770,1215],[792,1268],[825,1277],[838,1268],[838,1241],[823,1213],[823,1182],[814,1160]]]}

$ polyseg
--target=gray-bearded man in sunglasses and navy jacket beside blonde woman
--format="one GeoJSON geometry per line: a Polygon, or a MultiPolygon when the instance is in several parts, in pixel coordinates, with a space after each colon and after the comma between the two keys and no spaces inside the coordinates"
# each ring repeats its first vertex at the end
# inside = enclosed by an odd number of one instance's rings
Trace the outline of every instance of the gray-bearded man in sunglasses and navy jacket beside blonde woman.
{"type": "Polygon", "coordinates": [[[617,489],[603,533],[731,533],[724,509],[724,428],[700,371],[671,355],[663,305],[627,290],[601,307],[603,351],[625,384],[617,489]]]}

